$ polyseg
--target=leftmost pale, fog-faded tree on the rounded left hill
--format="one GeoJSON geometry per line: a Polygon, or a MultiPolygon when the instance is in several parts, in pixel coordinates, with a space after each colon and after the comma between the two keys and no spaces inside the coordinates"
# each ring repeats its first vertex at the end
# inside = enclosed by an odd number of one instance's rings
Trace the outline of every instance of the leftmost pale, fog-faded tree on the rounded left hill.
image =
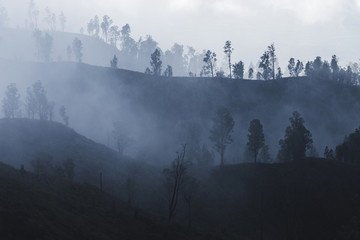
{"type": "Polygon", "coordinates": [[[15,83],[7,86],[2,108],[6,118],[15,118],[20,110],[20,94],[15,83]]]}

